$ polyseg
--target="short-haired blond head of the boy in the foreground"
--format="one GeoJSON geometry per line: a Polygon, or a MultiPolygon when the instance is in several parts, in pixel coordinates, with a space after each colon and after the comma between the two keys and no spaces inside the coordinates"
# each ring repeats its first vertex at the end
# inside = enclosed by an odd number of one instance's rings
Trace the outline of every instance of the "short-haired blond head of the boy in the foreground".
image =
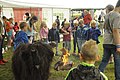
{"type": "Polygon", "coordinates": [[[96,41],[91,39],[83,44],[80,59],[82,59],[84,62],[95,62],[99,59],[98,45],[96,44],[96,41]]]}

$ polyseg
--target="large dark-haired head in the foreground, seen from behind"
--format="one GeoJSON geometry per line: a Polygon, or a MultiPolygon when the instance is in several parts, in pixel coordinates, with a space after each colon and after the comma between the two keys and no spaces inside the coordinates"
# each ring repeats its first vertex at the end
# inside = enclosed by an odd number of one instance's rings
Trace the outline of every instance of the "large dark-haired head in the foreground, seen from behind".
{"type": "Polygon", "coordinates": [[[53,56],[52,48],[47,44],[21,44],[12,57],[15,80],[48,80],[53,56]]]}

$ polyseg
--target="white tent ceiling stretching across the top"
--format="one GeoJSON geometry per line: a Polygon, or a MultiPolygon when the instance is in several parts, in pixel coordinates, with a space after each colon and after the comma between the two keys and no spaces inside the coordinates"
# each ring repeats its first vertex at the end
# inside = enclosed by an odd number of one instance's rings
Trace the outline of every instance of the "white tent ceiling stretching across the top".
{"type": "Polygon", "coordinates": [[[3,7],[105,8],[118,0],[0,0],[3,7]]]}

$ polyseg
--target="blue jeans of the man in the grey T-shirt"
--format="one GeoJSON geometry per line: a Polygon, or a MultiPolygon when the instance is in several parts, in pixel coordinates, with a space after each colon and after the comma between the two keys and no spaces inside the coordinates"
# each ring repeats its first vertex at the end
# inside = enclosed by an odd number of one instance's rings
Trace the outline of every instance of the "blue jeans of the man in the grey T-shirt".
{"type": "Polygon", "coordinates": [[[105,67],[107,66],[109,59],[111,57],[111,54],[113,54],[114,57],[114,67],[115,67],[115,80],[120,80],[120,54],[116,52],[115,45],[112,44],[104,44],[104,54],[102,61],[99,65],[99,70],[101,72],[104,72],[105,67]]]}

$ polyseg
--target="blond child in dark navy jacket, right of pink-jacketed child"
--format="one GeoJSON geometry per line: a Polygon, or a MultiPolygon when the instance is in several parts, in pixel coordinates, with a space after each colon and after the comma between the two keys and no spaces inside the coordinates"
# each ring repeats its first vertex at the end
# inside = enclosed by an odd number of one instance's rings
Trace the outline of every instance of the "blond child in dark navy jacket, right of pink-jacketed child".
{"type": "Polygon", "coordinates": [[[52,24],[52,28],[49,30],[48,33],[48,40],[50,42],[55,42],[56,43],[56,56],[59,55],[58,54],[58,43],[60,42],[60,36],[59,36],[59,31],[57,29],[57,23],[54,22],[52,24]]]}

